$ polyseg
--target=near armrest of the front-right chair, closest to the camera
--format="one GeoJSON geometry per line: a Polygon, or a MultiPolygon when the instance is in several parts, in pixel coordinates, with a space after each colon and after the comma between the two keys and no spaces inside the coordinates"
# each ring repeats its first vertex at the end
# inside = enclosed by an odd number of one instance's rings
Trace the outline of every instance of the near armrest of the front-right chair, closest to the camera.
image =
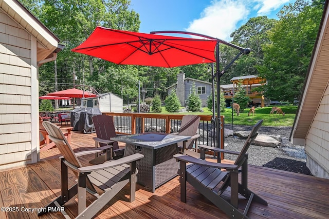
{"type": "Polygon", "coordinates": [[[206,160],[202,160],[199,158],[195,158],[195,157],[183,155],[183,154],[175,154],[173,157],[176,158],[177,161],[198,164],[200,166],[214,167],[217,169],[226,169],[226,170],[232,170],[232,171],[234,171],[234,170],[237,171],[239,169],[239,165],[236,165],[236,164],[214,163],[214,162],[209,162],[206,160]]]}

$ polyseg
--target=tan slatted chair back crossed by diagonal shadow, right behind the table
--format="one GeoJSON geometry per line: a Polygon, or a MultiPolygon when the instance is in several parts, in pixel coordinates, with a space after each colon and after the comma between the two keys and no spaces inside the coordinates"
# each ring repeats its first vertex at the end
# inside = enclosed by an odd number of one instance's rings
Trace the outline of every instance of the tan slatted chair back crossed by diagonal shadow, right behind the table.
{"type": "MultiPolygon", "coordinates": [[[[198,115],[184,115],[181,119],[181,126],[178,135],[193,136],[196,134],[199,128],[200,116],[198,115]]],[[[182,143],[179,143],[179,145],[182,143]]],[[[193,147],[193,141],[188,140],[186,148],[191,149],[193,147]]]]}

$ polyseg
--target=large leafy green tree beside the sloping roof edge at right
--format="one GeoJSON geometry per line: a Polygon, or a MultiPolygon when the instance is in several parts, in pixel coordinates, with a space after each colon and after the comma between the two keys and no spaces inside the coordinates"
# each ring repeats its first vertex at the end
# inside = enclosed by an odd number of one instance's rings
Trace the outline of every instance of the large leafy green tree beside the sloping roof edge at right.
{"type": "Polygon", "coordinates": [[[280,20],[269,31],[271,43],[264,46],[259,76],[267,79],[264,94],[269,99],[293,103],[299,99],[323,12],[321,4],[306,0],[283,7],[280,20]]]}

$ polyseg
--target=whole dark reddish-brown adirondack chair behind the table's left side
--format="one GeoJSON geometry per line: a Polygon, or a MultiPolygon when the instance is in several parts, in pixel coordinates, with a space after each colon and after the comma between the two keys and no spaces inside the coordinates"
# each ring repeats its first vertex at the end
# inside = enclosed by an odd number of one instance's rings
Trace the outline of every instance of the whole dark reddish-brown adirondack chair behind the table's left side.
{"type": "Polygon", "coordinates": [[[95,141],[95,147],[97,148],[98,144],[100,147],[112,145],[113,158],[117,159],[123,157],[124,148],[119,148],[118,142],[109,140],[109,138],[116,136],[113,116],[102,114],[95,115],[92,117],[92,120],[97,135],[97,137],[93,137],[93,140],[95,141]]]}

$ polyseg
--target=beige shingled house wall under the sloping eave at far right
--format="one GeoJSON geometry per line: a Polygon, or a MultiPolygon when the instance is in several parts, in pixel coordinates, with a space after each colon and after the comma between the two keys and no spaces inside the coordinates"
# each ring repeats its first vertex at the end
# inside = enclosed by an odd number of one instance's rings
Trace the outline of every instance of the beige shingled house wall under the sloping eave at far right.
{"type": "Polygon", "coordinates": [[[305,139],[306,166],[318,177],[329,178],[329,86],[305,139]]]}

